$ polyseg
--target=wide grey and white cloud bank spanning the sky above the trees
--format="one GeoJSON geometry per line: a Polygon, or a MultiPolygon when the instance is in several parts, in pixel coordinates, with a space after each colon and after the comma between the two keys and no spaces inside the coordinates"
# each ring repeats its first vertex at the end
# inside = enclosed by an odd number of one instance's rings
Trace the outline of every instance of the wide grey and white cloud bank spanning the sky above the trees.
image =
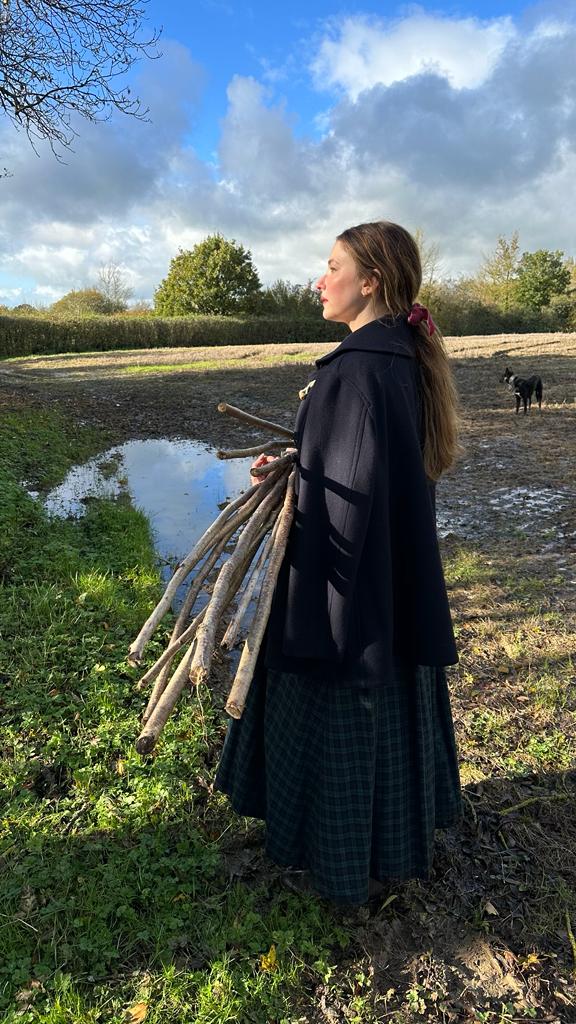
{"type": "MultiPolygon", "coordinates": [[[[347,94],[329,109],[323,101],[321,138],[302,134],[272,85],[235,76],[217,162],[200,160],[188,130],[202,76],[180,51],[166,80],[151,85],[154,105],[145,97],[158,124],[88,126],[64,168],[10,136],[17,166],[0,188],[4,294],[26,282],[17,295],[46,302],[114,261],[134,298],[150,298],[178,248],[213,231],[249,248],[265,283],[303,283],[322,272],[336,233],[379,217],[423,228],[451,273],[474,271],[497,236],[516,228],[525,249],[574,254],[574,28],[548,18],[521,39],[506,18],[425,17],[446,29],[444,49],[434,32],[415,33],[421,12],[395,23],[394,46],[388,37],[382,44],[389,80],[380,70],[372,81],[380,65],[368,54],[369,84],[361,91],[351,78],[347,94]],[[401,40],[402,60],[393,53],[401,40]],[[472,43],[478,81],[463,85],[472,43]],[[423,70],[424,56],[446,74],[423,70]]],[[[349,23],[319,42],[319,60],[349,23]]],[[[372,29],[381,42],[382,23],[372,29]]]]}

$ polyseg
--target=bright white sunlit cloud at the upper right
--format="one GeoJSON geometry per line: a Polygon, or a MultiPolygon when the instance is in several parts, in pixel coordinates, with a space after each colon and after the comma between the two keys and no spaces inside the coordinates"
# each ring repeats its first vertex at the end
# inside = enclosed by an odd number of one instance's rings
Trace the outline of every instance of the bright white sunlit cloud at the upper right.
{"type": "Polygon", "coordinates": [[[388,20],[358,15],[334,26],[311,70],[318,88],[337,88],[353,100],[375,85],[430,71],[455,88],[471,89],[486,81],[517,35],[510,17],[450,18],[417,8],[388,20]]]}

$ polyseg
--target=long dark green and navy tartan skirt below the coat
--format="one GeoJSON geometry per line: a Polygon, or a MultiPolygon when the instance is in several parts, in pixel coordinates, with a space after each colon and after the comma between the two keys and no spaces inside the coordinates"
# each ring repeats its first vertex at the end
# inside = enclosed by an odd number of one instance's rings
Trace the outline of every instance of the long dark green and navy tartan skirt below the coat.
{"type": "Polygon", "coordinates": [[[260,669],[231,721],[214,787],[265,821],[278,864],[363,903],[369,879],[428,878],[435,828],[460,816],[446,674],[398,666],[378,687],[260,669]]]}

